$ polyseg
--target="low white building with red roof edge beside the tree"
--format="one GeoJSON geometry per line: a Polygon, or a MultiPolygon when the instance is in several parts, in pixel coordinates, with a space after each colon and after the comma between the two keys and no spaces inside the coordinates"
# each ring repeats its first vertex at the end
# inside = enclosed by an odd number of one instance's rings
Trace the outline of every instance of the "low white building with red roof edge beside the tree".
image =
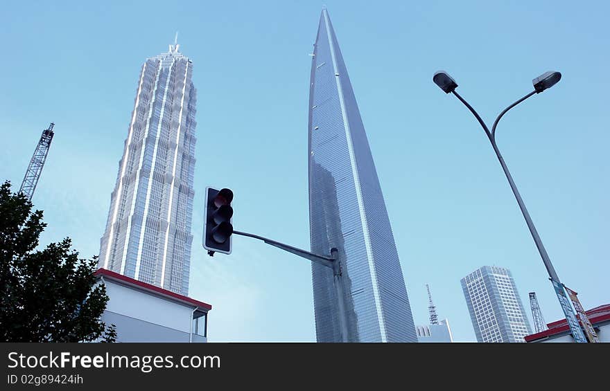
{"type": "Polygon", "coordinates": [[[116,342],[207,342],[210,304],[107,269],[96,271],[110,297],[102,315],[116,342]]]}

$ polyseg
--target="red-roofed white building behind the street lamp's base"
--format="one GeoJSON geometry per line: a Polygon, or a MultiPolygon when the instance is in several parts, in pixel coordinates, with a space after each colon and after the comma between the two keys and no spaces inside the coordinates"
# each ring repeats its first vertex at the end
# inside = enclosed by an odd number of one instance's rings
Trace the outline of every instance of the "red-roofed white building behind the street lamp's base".
{"type": "MultiPolygon", "coordinates": [[[[610,304],[600,305],[586,311],[600,342],[610,342],[610,304]]],[[[574,342],[565,319],[548,323],[548,330],[525,336],[525,342],[574,342]]]]}

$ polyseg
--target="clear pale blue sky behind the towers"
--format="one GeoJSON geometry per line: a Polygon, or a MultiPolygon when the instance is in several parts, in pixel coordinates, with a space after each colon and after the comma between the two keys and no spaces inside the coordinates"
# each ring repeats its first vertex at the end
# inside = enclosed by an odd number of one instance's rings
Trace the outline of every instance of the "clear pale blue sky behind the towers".
{"type": "MultiPolygon", "coordinates": [[[[607,1],[325,0],[356,93],[416,324],[476,340],[460,278],[510,269],[531,313],[562,316],[489,141],[432,82],[448,71],[491,125],[549,70],[563,78],[510,111],[497,140],[562,282],[610,302],[607,1]]],[[[316,1],[10,1],[0,12],[1,180],[18,190],[42,129],[55,138],[34,196],[46,244],[99,252],[147,57],[176,31],[198,89],[191,290],[210,341],[315,341],[311,267],[245,237],[201,247],[203,190],[234,190],[234,226],[308,248],[307,106],[316,1]],[[223,145],[226,146],[223,149],[223,145]]]]}

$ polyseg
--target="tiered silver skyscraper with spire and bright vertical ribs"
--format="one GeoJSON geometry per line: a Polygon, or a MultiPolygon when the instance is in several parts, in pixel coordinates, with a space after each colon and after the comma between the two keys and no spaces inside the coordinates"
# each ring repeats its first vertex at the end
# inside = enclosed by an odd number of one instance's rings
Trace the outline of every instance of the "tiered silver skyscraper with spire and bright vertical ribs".
{"type": "Polygon", "coordinates": [[[196,90],[178,48],[142,66],[98,266],[187,295],[196,90]]]}

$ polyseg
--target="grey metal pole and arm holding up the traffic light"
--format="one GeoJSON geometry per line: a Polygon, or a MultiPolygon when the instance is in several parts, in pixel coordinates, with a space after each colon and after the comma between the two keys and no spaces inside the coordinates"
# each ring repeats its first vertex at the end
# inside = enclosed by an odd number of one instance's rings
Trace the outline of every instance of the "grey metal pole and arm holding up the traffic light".
{"type": "Polygon", "coordinates": [[[343,290],[343,277],[341,270],[341,261],[339,250],[335,247],[331,248],[331,255],[318,255],[315,253],[311,253],[306,250],[302,250],[301,248],[293,247],[288,244],[284,244],[281,242],[277,242],[272,239],[268,239],[266,237],[262,237],[259,235],[254,235],[252,233],[245,233],[240,231],[233,231],[234,235],[241,235],[252,237],[254,239],[259,239],[265,242],[266,244],[270,244],[271,246],[275,246],[277,248],[281,248],[284,251],[288,251],[288,253],[293,253],[295,255],[299,255],[299,257],[310,260],[311,262],[315,262],[317,264],[329,267],[333,269],[333,282],[335,285],[335,290],[337,293],[338,307],[339,307],[339,322],[341,327],[341,340],[343,342],[348,342],[347,340],[347,313],[345,311],[345,292],[343,290]]]}

